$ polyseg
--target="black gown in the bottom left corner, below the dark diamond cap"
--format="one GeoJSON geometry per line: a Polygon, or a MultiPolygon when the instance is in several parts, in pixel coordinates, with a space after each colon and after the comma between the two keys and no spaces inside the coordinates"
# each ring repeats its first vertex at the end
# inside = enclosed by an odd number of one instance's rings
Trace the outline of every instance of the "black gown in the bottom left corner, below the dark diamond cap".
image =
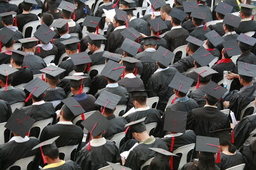
{"type": "MultiPolygon", "coordinates": [[[[38,150],[32,148],[39,143],[38,139],[32,137],[26,142],[10,141],[0,145],[0,169],[7,169],[19,159],[36,155],[38,150]]],[[[29,167],[28,170],[36,169],[36,166],[38,168],[38,162],[34,161],[33,167],[29,167]]]]}

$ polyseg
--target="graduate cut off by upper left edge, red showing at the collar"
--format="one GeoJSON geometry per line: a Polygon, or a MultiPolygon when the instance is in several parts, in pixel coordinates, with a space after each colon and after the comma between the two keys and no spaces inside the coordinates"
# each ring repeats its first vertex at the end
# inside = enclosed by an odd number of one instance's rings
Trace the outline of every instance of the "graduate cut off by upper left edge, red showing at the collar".
{"type": "Polygon", "coordinates": [[[8,29],[7,27],[3,27],[3,29],[0,30],[0,64],[10,64],[12,52],[10,50],[13,50],[13,45],[15,44],[13,36],[15,35],[15,32],[8,29]],[[5,46],[5,50],[2,52],[2,47],[5,46]]]}

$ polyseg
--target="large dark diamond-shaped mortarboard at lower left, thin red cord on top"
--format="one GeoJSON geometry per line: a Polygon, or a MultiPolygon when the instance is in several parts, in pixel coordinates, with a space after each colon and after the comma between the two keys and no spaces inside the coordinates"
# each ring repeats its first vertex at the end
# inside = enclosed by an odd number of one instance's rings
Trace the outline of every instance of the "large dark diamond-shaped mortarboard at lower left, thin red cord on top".
{"type": "Polygon", "coordinates": [[[16,109],[4,127],[24,138],[35,122],[36,120],[26,115],[24,111],[16,109]]]}

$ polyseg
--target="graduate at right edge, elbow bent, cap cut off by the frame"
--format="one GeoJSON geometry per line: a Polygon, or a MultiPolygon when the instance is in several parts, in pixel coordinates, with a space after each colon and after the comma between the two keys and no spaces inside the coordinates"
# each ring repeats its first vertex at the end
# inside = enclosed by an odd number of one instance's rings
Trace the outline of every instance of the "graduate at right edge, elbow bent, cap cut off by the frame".
{"type": "MultiPolygon", "coordinates": [[[[228,101],[223,102],[225,108],[234,112],[236,120],[240,120],[241,111],[254,100],[256,85],[253,83],[253,77],[256,76],[256,65],[246,62],[238,62],[238,76],[243,86],[239,92],[235,92],[228,101]]],[[[244,115],[244,117],[246,114],[244,115]]]]}

